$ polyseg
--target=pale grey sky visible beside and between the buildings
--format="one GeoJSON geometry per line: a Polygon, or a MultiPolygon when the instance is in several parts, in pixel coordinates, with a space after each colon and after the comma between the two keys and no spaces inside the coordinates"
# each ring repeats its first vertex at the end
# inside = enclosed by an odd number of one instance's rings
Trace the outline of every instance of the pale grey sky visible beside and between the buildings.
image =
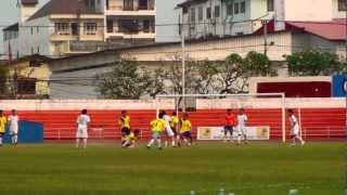
{"type": "MultiPolygon", "coordinates": [[[[39,0],[39,6],[42,6],[49,0],[39,0]]],[[[177,14],[174,14],[174,8],[176,4],[184,0],[157,0],[157,24],[172,24],[177,23],[177,14]]],[[[16,23],[17,18],[17,0],[0,0],[0,53],[3,51],[3,26],[9,26],[16,23]]],[[[174,38],[169,36],[176,35],[177,29],[175,27],[158,27],[158,41],[172,41],[174,38]],[[168,37],[165,37],[168,36],[168,37]]]]}

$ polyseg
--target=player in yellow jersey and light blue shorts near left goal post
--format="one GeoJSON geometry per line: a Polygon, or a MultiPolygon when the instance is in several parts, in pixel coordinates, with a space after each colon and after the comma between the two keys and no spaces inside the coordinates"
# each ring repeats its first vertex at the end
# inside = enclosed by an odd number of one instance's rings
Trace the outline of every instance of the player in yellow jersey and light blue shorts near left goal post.
{"type": "Polygon", "coordinates": [[[147,144],[147,148],[150,150],[154,142],[157,143],[159,150],[162,150],[162,140],[160,134],[165,130],[165,121],[163,120],[163,112],[159,113],[158,118],[151,121],[151,130],[152,130],[152,140],[147,144]]]}

